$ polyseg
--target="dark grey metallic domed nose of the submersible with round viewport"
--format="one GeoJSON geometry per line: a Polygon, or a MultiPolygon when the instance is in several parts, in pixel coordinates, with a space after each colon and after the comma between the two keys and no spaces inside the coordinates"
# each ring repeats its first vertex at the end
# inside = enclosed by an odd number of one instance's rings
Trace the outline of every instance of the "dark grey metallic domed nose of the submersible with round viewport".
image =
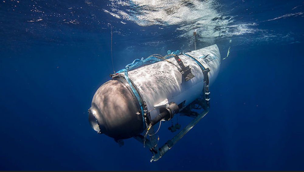
{"type": "Polygon", "coordinates": [[[139,103],[123,79],[100,86],[88,111],[91,127],[114,139],[128,139],[143,131],[139,103]]]}

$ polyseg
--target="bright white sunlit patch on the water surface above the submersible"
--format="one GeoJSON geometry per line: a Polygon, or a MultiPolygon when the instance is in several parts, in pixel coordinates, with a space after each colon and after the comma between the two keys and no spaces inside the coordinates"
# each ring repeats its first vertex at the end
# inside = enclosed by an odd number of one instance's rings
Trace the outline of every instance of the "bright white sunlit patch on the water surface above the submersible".
{"type": "Polygon", "coordinates": [[[213,42],[212,38],[215,37],[256,31],[250,28],[255,23],[231,25],[233,17],[222,15],[218,11],[220,5],[216,0],[111,0],[111,7],[111,12],[105,9],[104,12],[118,19],[132,21],[139,26],[178,26],[177,30],[181,31],[179,37],[192,37],[195,31],[208,42],[213,42]],[[122,6],[129,8],[120,8],[122,6]]]}

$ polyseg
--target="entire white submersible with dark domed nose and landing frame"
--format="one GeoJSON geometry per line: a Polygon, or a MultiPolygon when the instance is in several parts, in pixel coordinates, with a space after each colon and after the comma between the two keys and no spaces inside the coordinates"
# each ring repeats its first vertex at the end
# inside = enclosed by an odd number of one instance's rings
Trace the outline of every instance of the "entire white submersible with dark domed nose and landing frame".
{"type": "Polygon", "coordinates": [[[88,110],[89,123],[120,146],[123,139],[135,138],[153,153],[150,161],[156,161],[209,112],[209,86],[218,75],[220,63],[216,44],[187,53],[168,52],[164,57],[154,54],[134,60],[126,69],[111,74],[112,79],[95,92],[88,110]],[[158,147],[153,126],[187,113],[194,104],[204,111],[187,115],[193,121],[158,147]]]}

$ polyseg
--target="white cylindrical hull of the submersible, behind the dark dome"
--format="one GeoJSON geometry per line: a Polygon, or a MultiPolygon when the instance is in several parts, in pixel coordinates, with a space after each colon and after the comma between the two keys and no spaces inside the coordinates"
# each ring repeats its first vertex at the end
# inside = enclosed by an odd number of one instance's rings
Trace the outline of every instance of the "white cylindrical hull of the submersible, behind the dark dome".
{"type": "MultiPolygon", "coordinates": [[[[195,76],[189,81],[185,81],[185,78],[181,76],[179,72],[181,67],[174,57],[168,59],[173,64],[164,60],[128,71],[130,80],[137,88],[143,101],[146,102],[149,111],[171,101],[176,104],[185,101],[185,106],[187,106],[199,97],[204,86],[204,75],[197,62],[202,64],[205,69],[210,69],[208,73],[209,84],[215,81],[221,63],[219,48],[216,44],[178,57],[185,66],[190,66],[191,72],[195,76]]],[[[152,110],[150,112],[151,119],[154,119],[158,114],[158,108],[152,110]]]]}

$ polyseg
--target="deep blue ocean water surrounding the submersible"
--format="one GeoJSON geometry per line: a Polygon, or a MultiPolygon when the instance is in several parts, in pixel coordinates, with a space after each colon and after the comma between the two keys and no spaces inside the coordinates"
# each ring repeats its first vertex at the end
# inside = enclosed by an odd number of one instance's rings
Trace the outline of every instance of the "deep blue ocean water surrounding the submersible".
{"type": "Polygon", "coordinates": [[[303,0],[2,0],[0,170],[304,170],[303,27],[303,0]],[[193,32],[230,47],[206,117],[152,163],[97,134],[87,111],[113,66],[194,50],[193,32]]]}

